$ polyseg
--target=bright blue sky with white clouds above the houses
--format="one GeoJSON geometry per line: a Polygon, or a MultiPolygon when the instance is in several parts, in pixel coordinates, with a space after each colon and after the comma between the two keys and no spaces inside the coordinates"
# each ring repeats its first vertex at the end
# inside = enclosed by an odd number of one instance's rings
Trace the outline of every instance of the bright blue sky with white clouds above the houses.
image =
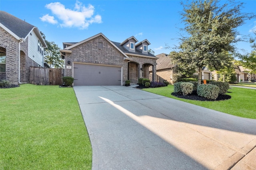
{"type": "MultiPolygon", "coordinates": [[[[226,1],[221,1],[226,2],[226,1]]],[[[256,12],[256,0],[243,0],[243,12],[256,12]]],[[[38,27],[48,41],[60,48],[62,42],[79,42],[98,33],[111,41],[122,42],[135,36],[148,39],[148,49],[170,53],[164,49],[178,45],[179,0],[1,0],[0,10],[38,27]]],[[[242,35],[252,35],[256,19],[238,28],[242,35]]],[[[250,44],[238,43],[238,49],[251,51],[250,44]]]]}

